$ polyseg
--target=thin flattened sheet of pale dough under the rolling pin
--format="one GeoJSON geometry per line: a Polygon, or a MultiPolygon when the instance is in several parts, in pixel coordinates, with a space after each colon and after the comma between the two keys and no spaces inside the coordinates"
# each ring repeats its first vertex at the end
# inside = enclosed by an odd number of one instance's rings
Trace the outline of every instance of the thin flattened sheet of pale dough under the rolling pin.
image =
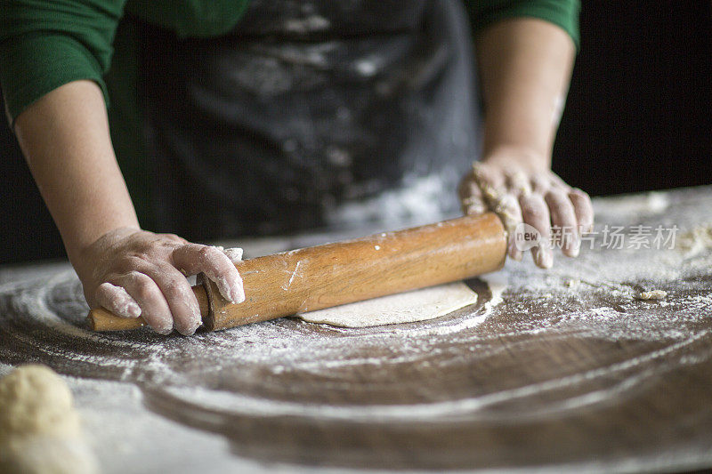
{"type": "Polygon", "coordinates": [[[304,321],[340,327],[368,327],[425,321],[477,302],[477,293],[461,282],[433,286],[319,309],[298,315],[304,321]]]}

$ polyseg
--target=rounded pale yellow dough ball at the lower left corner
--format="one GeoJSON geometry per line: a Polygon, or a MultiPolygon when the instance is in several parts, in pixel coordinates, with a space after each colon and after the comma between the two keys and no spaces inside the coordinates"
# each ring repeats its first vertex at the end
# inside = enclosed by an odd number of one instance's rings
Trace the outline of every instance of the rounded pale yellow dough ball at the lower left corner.
{"type": "Polygon", "coordinates": [[[20,366],[0,380],[0,443],[36,435],[78,436],[72,393],[46,366],[20,366]]]}

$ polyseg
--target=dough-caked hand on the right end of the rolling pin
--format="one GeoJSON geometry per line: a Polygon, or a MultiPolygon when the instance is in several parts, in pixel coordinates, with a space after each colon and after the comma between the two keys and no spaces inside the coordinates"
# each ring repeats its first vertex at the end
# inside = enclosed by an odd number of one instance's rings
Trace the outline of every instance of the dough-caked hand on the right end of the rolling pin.
{"type": "Polygon", "coordinates": [[[507,253],[516,261],[522,260],[522,250],[515,245],[514,229],[521,222],[537,229],[541,245],[531,248],[532,258],[548,269],[554,263],[552,228],[560,232],[562,252],[575,257],[581,234],[593,229],[594,208],[584,191],[571,188],[542,163],[546,160],[490,157],[473,165],[459,196],[466,214],[498,213],[509,238],[507,253]]]}

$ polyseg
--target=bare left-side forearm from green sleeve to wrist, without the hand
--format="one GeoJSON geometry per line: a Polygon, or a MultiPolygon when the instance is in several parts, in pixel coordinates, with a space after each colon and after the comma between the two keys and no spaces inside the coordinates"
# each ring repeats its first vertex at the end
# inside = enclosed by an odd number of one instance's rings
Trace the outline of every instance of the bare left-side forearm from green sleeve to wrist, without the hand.
{"type": "Polygon", "coordinates": [[[17,117],[15,133],[75,267],[82,250],[110,230],[138,229],[95,83],[46,94],[17,117]]]}

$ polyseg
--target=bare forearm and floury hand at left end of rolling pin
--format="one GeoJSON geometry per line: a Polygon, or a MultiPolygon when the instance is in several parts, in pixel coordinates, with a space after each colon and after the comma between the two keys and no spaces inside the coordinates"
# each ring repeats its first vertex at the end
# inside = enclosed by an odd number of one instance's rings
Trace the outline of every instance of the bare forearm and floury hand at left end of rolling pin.
{"type": "Polygon", "coordinates": [[[200,309],[185,274],[203,273],[224,298],[245,300],[227,254],[139,229],[95,83],[76,81],[44,95],[17,117],[15,133],[90,306],[140,315],[159,333],[192,334],[200,309]]]}

